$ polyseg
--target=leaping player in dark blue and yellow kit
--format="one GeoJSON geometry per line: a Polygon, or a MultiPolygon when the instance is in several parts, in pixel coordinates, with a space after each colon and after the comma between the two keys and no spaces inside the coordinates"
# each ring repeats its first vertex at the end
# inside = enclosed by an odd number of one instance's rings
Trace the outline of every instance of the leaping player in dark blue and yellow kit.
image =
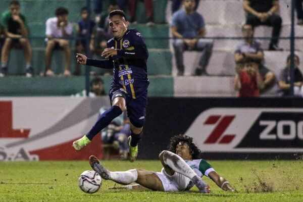
{"type": "Polygon", "coordinates": [[[129,160],[135,161],[138,155],[138,142],[141,139],[145,112],[147,107],[146,60],[148,51],[141,34],[135,29],[128,29],[128,21],[121,10],[109,14],[110,29],[114,38],[108,41],[102,56],[105,60],[88,59],[77,54],[77,63],[105,69],[114,69],[111,83],[110,99],[112,107],[99,116],[95,125],[82,138],[73,142],[75,150],[80,150],[112,120],[124,110],[131,123],[129,139],[129,160]]]}

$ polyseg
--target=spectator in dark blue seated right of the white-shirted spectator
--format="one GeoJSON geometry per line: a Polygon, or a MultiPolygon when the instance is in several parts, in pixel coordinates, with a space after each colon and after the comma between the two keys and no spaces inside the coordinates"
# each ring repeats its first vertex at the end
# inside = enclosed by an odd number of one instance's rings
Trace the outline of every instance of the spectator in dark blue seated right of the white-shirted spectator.
{"type": "MultiPolygon", "coordinates": [[[[88,9],[87,7],[83,7],[80,11],[80,17],[81,19],[78,20],[76,25],[77,30],[77,40],[76,40],[76,53],[83,53],[83,51],[86,48],[86,44],[89,45],[89,41],[87,41],[86,37],[89,37],[88,40],[90,40],[90,37],[92,35],[92,32],[94,30],[95,22],[93,20],[88,21],[88,9]],[[88,30],[89,27],[89,30],[88,30]],[[89,33],[87,33],[89,31],[89,33]],[[88,34],[88,36],[87,36],[88,34]]],[[[81,68],[78,63],[76,63],[75,72],[74,75],[80,75],[81,74],[81,68]]]]}

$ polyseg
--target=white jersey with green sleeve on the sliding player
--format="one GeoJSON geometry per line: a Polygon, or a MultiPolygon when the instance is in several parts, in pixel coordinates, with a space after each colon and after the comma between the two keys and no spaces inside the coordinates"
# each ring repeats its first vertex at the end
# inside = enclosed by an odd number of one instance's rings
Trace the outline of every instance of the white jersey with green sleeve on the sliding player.
{"type": "Polygon", "coordinates": [[[215,171],[204,159],[186,160],[185,162],[199,177],[203,177],[204,175],[208,177],[210,172],[215,171]]]}

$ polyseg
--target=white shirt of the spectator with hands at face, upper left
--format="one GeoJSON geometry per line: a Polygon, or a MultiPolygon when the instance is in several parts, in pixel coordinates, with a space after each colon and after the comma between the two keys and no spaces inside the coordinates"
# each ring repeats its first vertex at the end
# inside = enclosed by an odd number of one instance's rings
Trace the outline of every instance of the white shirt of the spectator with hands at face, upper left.
{"type": "MultiPolygon", "coordinates": [[[[62,30],[57,26],[58,18],[53,17],[49,18],[46,21],[46,35],[51,35],[52,37],[63,37],[62,30]]],[[[68,22],[67,26],[65,27],[65,31],[68,35],[71,35],[73,31],[73,24],[71,22],[68,22]]]]}

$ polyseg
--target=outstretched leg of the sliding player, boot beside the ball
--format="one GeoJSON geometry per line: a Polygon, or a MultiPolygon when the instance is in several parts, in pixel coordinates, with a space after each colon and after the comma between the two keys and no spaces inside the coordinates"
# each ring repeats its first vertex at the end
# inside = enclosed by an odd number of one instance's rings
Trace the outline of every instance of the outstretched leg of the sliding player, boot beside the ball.
{"type": "Polygon", "coordinates": [[[154,172],[142,169],[111,172],[100,164],[99,160],[94,156],[89,157],[89,164],[103,179],[112,180],[124,185],[136,182],[151,190],[164,191],[161,180],[154,172]]]}

